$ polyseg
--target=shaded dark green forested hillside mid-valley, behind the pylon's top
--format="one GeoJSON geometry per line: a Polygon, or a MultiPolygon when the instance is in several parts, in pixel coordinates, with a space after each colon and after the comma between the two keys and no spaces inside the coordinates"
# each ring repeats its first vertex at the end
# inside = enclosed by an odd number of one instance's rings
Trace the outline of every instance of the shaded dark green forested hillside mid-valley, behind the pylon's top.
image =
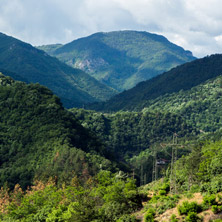
{"type": "Polygon", "coordinates": [[[185,140],[194,138],[198,131],[180,115],[170,112],[117,112],[102,114],[84,109],[71,109],[82,126],[105,142],[119,159],[129,160],[155,143],[171,140],[177,135],[185,140]]]}

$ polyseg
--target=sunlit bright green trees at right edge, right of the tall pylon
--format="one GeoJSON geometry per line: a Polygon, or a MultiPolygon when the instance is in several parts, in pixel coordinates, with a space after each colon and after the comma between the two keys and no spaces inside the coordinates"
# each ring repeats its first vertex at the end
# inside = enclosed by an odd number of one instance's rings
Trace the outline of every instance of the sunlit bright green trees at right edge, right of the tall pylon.
{"type": "MultiPolygon", "coordinates": [[[[218,131],[217,134],[221,134],[218,131]]],[[[222,190],[221,137],[211,137],[214,142],[200,142],[188,156],[177,161],[177,183],[181,191],[193,186],[202,193],[218,193],[222,190]]]]}

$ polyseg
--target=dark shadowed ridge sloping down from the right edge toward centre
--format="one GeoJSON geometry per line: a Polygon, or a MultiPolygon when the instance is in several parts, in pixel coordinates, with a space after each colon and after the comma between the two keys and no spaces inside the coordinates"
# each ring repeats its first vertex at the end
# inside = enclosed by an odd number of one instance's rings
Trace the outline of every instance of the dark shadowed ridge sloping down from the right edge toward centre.
{"type": "Polygon", "coordinates": [[[149,100],[180,90],[189,90],[219,75],[222,75],[222,55],[207,56],[141,82],[107,102],[93,104],[89,108],[103,111],[142,110],[149,100]]]}

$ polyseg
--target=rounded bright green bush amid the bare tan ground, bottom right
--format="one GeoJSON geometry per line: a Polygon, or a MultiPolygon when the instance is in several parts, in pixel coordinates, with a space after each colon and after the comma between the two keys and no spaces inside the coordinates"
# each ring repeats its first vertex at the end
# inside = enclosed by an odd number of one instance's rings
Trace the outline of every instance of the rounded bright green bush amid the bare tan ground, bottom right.
{"type": "Polygon", "coordinates": [[[199,213],[202,211],[202,206],[197,204],[197,202],[184,201],[182,205],[178,206],[178,212],[180,215],[188,215],[189,213],[199,213]]]}

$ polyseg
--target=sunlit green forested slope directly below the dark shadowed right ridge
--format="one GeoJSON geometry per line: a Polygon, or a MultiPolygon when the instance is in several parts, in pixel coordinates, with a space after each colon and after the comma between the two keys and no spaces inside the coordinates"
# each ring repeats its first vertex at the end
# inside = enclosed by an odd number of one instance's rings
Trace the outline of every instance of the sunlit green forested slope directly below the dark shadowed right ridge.
{"type": "Polygon", "coordinates": [[[143,112],[170,112],[202,133],[222,129],[222,75],[191,88],[148,100],[143,112]]]}

